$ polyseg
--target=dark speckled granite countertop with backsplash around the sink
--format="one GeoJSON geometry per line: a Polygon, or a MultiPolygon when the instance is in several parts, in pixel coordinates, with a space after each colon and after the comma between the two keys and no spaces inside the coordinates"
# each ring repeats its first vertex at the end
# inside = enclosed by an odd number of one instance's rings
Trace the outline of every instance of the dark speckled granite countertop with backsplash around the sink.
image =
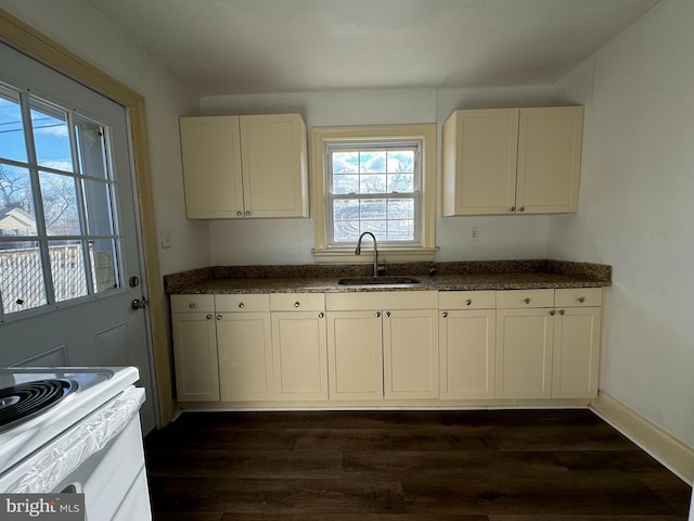
{"type": "Polygon", "coordinates": [[[342,285],[340,278],[369,277],[372,265],[217,266],[164,277],[168,294],[335,293],[357,291],[522,290],[602,288],[612,267],[564,260],[491,260],[388,265],[387,277],[416,277],[419,284],[342,285]]]}

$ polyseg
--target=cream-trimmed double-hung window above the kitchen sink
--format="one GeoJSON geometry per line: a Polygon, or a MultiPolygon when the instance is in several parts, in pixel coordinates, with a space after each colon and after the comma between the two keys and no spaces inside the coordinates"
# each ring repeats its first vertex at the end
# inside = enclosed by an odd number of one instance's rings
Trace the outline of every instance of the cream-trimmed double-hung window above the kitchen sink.
{"type": "Polygon", "coordinates": [[[435,154],[435,125],[314,127],[317,260],[357,260],[364,231],[386,260],[433,260],[435,154]]]}

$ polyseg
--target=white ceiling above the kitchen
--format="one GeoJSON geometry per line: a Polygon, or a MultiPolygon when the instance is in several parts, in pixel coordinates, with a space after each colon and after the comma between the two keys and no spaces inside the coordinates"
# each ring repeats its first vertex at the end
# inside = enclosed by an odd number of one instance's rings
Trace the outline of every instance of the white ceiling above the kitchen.
{"type": "Polygon", "coordinates": [[[88,0],[201,96],[554,82],[661,0],[88,0]]]}

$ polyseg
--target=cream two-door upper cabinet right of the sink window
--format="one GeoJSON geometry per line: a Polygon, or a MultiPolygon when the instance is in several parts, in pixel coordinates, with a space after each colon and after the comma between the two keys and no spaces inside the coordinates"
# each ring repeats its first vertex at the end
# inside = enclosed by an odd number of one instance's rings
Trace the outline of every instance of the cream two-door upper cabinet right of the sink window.
{"type": "Polygon", "coordinates": [[[582,127],[582,106],[453,112],[444,125],[444,216],[576,212],[582,127]]]}

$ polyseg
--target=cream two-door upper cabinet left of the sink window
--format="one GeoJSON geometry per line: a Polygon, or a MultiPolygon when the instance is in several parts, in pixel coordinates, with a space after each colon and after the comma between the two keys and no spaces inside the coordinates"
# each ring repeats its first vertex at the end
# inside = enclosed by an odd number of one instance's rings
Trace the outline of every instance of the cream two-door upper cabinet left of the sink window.
{"type": "Polygon", "coordinates": [[[308,217],[299,114],[181,118],[188,218],[308,217]]]}

